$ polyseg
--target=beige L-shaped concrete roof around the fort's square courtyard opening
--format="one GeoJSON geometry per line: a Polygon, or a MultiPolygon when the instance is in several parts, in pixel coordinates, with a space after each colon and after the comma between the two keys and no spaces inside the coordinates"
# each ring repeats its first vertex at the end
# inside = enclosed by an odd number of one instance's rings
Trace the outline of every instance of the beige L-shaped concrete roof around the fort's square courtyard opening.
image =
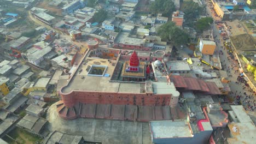
{"type": "MultiPolygon", "coordinates": [[[[72,80],[69,81],[68,86],[62,89],[63,93],[71,92],[72,90],[79,91],[97,91],[97,92],[124,92],[124,93],[140,93],[143,84],[141,83],[119,83],[119,82],[109,82],[110,77],[104,76],[89,76],[86,68],[92,66],[95,63],[100,63],[101,65],[107,66],[106,74],[113,74],[114,66],[110,64],[107,59],[98,59],[98,58],[87,58],[85,60],[86,64],[81,64],[74,74],[72,80]],[[79,74],[79,70],[82,72],[79,74]],[[81,77],[84,76],[84,79],[81,77]],[[83,83],[83,85],[81,85],[83,83]],[[130,91],[133,89],[133,91],[130,91]]],[[[113,62],[113,60],[112,60],[113,62]]],[[[115,63],[115,62],[113,62],[115,63]]]]}

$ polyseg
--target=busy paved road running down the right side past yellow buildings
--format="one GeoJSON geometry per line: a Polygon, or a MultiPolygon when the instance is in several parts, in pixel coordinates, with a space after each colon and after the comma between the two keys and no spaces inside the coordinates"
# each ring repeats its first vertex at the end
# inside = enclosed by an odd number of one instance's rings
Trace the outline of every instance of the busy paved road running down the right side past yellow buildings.
{"type": "MultiPolygon", "coordinates": [[[[207,7],[207,13],[209,16],[213,17],[214,21],[220,20],[219,17],[214,16],[214,13],[212,13],[211,9],[209,8],[209,5],[207,7]]],[[[236,71],[238,69],[237,67],[238,63],[235,61],[235,59],[229,58],[229,53],[226,51],[226,49],[223,48],[224,41],[222,40],[222,36],[220,36],[219,34],[217,25],[213,23],[212,28],[213,28],[213,36],[215,37],[214,40],[216,41],[216,44],[217,44],[217,51],[223,52],[223,55],[220,55],[220,61],[222,62],[223,68],[227,72],[229,76],[229,80],[231,81],[229,83],[230,89],[231,89],[231,94],[229,96],[234,99],[236,98],[237,95],[240,96],[241,103],[243,104],[245,109],[249,110],[248,104],[246,103],[250,103],[249,105],[253,106],[255,104],[253,100],[255,100],[256,96],[255,94],[250,92],[251,91],[250,88],[246,87],[243,89],[243,86],[245,86],[244,83],[236,83],[237,76],[240,75],[240,73],[236,71]],[[246,99],[246,96],[247,96],[247,99],[246,99]],[[249,98],[249,96],[251,96],[251,99],[249,98]]],[[[253,109],[251,110],[253,111],[254,109],[255,109],[255,106],[253,106],[253,109]]]]}

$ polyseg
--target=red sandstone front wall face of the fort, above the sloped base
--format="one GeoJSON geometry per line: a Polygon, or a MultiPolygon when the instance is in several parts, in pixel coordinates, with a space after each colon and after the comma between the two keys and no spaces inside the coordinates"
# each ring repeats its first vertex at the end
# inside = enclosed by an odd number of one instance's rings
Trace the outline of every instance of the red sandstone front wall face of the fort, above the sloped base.
{"type": "Polygon", "coordinates": [[[61,94],[61,98],[67,107],[72,107],[79,102],[85,104],[163,106],[170,104],[171,95],[74,91],[70,94],[61,94]]]}

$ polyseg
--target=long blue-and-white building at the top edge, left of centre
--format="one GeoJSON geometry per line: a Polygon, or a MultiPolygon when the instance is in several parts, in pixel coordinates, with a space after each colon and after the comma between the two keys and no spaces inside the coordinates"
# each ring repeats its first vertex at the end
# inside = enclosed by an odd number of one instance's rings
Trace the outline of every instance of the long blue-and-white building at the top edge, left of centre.
{"type": "Polygon", "coordinates": [[[84,1],[75,0],[71,3],[67,3],[62,8],[62,14],[71,14],[74,13],[75,10],[81,9],[85,7],[84,1]]]}

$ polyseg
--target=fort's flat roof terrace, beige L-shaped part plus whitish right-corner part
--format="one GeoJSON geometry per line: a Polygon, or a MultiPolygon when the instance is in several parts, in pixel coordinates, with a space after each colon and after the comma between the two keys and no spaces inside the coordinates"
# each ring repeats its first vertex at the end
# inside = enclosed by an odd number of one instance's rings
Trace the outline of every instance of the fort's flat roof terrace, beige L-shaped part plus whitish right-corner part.
{"type": "MultiPolygon", "coordinates": [[[[146,87],[145,83],[123,83],[123,82],[109,82],[111,76],[114,73],[115,64],[117,60],[92,58],[85,56],[83,62],[79,65],[77,71],[74,73],[73,77],[69,80],[67,86],[63,87],[62,93],[69,93],[74,91],[95,91],[95,92],[114,92],[114,93],[145,93],[146,87]],[[106,76],[92,76],[90,75],[90,69],[92,65],[101,65],[107,67],[104,74],[109,74],[106,76]],[[89,75],[88,75],[89,74],[89,75]],[[132,89],[132,91],[131,91],[132,89]]],[[[173,83],[171,85],[166,85],[166,82],[154,82],[152,83],[153,93],[155,94],[174,94],[178,95],[178,91],[174,87],[173,83]]]]}

